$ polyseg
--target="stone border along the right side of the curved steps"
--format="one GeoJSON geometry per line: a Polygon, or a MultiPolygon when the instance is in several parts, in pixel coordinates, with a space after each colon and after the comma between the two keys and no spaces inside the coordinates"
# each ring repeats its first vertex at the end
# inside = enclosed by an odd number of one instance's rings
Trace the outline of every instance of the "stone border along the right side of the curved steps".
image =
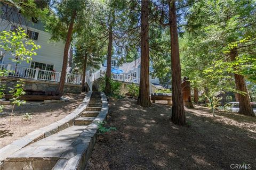
{"type": "Polygon", "coordinates": [[[101,92],[102,107],[99,115],[72,143],[73,150],[62,154],[52,170],[84,169],[90,158],[95,142],[97,141],[98,123],[106,120],[108,114],[108,101],[101,92]]]}

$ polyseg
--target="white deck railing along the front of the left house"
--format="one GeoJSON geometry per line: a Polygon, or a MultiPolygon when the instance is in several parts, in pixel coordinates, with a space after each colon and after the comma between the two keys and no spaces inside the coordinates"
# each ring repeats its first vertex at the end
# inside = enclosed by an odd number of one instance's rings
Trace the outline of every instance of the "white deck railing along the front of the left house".
{"type": "MultiPolygon", "coordinates": [[[[34,79],[34,80],[46,80],[46,81],[60,81],[61,72],[40,70],[39,68],[31,69],[27,67],[15,66],[15,65],[6,65],[0,64],[1,70],[10,71],[9,77],[18,77],[25,79],[34,79]]],[[[81,83],[81,75],[80,74],[66,74],[66,83],[71,84],[80,84],[81,83]]]]}

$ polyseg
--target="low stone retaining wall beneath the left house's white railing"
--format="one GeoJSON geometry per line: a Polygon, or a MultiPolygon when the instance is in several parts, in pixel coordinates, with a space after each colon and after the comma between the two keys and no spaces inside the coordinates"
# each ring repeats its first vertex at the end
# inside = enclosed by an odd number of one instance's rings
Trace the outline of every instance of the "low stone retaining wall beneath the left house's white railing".
{"type": "MultiPolygon", "coordinates": [[[[13,88],[19,78],[11,78],[11,77],[0,77],[1,83],[5,83],[6,87],[13,88]]],[[[43,81],[43,80],[30,80],[30,79],[23,79],[25,82],[26,89],[33,89],[33,90],[45,90],[45,91],[56,91],[58,88],[58,82],[52,81],[43,81]]],[[[79,84],[69,84],[65,83],[64,92],[70,94],[79,94],[81,93],[82,85],[79,84]]],[[[9,92],[10,89],[6,88],[5,93],[9,92]]]]}

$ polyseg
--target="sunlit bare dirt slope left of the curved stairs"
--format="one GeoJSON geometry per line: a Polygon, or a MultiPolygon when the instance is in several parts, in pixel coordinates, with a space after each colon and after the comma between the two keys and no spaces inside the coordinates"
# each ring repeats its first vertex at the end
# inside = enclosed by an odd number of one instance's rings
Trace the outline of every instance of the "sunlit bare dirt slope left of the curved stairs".
{"type": "Polygon", "coordinates": [[[66,94],[64,97],[68,98],[69,101],[14,107],[15,116],[12,117],[10,128],[9,121],[12,107],[6,105],[4,112],[0,114],[0,148],[34,130],[61,120],[81,104],[85,94],[66,94]],[[23,120],[22,115],[25,113],[30,113],[33,116],[32,119],[23,120]]]}

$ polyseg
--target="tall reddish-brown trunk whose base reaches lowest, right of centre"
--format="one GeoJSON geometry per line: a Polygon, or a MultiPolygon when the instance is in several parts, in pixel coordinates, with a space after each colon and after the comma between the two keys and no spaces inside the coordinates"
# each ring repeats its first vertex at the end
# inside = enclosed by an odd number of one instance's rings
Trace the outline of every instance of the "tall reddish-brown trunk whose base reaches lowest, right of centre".
{"type": "Polygon", "coordinates": [[[181,92],[181,66],[175,1],[169,0],[171,61],[172,61],[172,117],[178,125],[186,125],[186,116],[181,92]]]}

